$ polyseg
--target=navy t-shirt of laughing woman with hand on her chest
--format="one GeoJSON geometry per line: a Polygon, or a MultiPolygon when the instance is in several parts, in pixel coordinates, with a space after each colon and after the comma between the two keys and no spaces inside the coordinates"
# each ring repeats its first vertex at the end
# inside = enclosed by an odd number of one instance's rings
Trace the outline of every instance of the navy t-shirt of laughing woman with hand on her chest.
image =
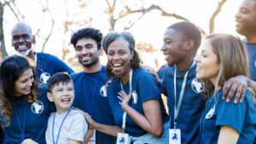
{"type": "MultiPolygon", "coordinates": [[[[169,118],[166,113],[166,109],[164,107],[163,101],[160,97],[160,89],[157,86],[155,78],[148,71],[137,68],[133,70],[132,74],[132,99],[130,101],[130,106],[134,108],[137,112],[140,112],[144,115],[143,112],[143,102],[149,100],[157,100],[160,102],[160,108],[162,113],[162,121],[165,124],[169,118]]],[[[126,94],[130,92],[130,84],[123,85],[126,94]]],[[[118,93],[121,90],[120,78],[116,78],[113,80],[113,83],[108,86],[108,101],[113,112],[113,118],[115,123],[122,128],[123,123],[123,109],[121,105],[119,105],[118,93]]],[[[145,135],[148,132],[139,127],[127,114],[126,116],[126,124],[125,124],[125,132],[132,136],[141,136],[145,135]]]]}

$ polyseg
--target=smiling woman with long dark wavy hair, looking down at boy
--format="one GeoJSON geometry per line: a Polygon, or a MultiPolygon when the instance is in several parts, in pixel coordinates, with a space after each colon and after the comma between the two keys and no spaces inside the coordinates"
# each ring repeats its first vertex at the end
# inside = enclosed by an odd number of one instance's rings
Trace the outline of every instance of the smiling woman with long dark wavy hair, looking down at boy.
{"type": "Polygon", "coordinates": [[[38,95],[38,81],[25,57],[14,55],[3,60],[0,66],[0,89],[3,143],[45,143],[44,132],[50,104],[44,93],[38,95]]]}

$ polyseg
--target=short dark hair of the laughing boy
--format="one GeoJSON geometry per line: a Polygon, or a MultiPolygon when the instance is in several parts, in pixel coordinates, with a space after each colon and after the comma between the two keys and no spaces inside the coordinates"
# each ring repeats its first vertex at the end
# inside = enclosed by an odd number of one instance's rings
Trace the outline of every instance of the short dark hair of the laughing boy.
{"type": "Polygon", "coordinates": [[[51,89],[55,86],[55,84],[67,84],[69,82],[72,82],[72,79],[68,75],[67,72],[57,72],[54,75],[52,75],[49,80],[47,81],[47,91],[51,91],[51,89]]]}

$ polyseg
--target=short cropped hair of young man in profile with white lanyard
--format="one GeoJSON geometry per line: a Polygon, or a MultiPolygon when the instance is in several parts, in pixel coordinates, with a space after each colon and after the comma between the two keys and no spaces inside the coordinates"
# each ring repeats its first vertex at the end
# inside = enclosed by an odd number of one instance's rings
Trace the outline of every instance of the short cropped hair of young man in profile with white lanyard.
{"type": "Polygon", "coordinates": [[[195,52],[199,49],[201,45],[201,31],[195,26],[192,22],[189,21],[181,21],[171,26],[168,26],[167,29],[173,29],[176,32],[180,32],[183,34],[184,40],[193,40],[195,45],[195,52]]]}

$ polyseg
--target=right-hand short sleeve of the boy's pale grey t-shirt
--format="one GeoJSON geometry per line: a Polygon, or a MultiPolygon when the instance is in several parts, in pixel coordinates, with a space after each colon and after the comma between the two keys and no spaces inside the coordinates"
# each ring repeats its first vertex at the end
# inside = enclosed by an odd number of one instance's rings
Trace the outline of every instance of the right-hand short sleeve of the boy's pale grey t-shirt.
{"type": "Polygon", "coordinates": [[[67,138],[75,141],[84,141],[84,135],[88,130],[88,124],[81,113],[73,116],[73,124],[68,131],[67,138]]]}

